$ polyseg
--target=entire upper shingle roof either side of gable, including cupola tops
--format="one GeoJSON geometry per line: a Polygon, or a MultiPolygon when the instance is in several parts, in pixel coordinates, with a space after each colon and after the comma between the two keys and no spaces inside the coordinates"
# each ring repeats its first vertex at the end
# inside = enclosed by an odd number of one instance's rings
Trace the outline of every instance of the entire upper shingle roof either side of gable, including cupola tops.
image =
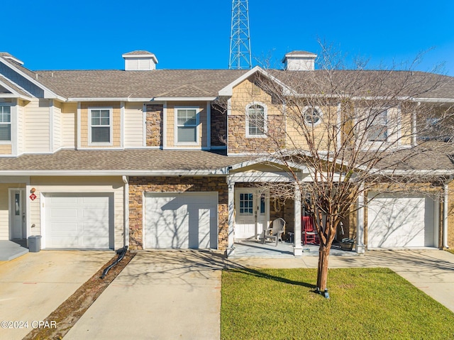
{"type": "MultiPolygon", "coordinates": [[[[126,55],[149,53],[138,50],[126,55]]],[[[287,55],[306,51],[292,51],[287,55]]],[[[150,54],[152,55],[152,54],[150,54]]],[[[49,70],[31,71],[26,67],[0,57],[26,75],[37,79],[45,87],[65,98],[154,98],[154,97],[217,97],[223,87],[231,84],[248,70],[49,70]]],[[[428,72],[388,71],[388,70],[324,70],[284,71],[267,70],[284,84],[301,94],[321,90],[329,93],[331,80],[338,88],[363,90],[367,94],[386,95],[398,84],[409,82],[402,88],[402,96],[418,98],[454,98],[454,77],[428,72]],[[331,78],[333,77],[333,79],[331,78]],[[385,94],[384,94],[385,93],[385,94]]]]}

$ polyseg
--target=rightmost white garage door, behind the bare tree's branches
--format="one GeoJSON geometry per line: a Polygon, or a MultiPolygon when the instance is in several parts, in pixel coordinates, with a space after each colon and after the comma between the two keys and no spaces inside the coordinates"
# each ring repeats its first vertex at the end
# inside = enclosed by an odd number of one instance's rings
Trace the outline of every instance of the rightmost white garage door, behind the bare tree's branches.
{"type": "Polygon", "coordinates": [[[367,247],[436,246],[433,199],[380,194],[368,204],[367,247]]]}

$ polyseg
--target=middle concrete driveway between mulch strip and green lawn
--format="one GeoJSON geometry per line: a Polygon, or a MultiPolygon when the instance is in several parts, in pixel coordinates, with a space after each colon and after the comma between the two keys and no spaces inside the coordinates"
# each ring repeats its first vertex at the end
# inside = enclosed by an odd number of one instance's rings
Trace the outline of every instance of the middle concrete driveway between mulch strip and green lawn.
{"type": "Polygon", "coordinates": [[[219,339],[223,258],[205,251],[135,255],[67,339],[219,339]]]}

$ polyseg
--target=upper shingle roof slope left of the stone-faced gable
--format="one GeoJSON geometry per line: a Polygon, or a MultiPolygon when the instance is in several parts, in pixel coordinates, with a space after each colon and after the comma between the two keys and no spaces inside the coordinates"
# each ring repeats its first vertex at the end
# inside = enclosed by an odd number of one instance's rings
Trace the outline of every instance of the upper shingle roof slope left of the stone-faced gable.
{"type": "Polygon", "coordinates": [[[246,70],[38,71],[38,81],[66,98],[217,97],[246,70]]]}

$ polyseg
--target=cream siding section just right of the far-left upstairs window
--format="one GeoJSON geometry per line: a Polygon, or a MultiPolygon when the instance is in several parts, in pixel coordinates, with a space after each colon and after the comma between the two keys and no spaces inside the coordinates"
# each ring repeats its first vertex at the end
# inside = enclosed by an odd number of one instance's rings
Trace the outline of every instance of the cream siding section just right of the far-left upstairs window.
{"type": "Polygon", "coordinates": [[[25,107],[26,153],[48,153],[50,141],[49,101],[33,100],[25,107]]]}

